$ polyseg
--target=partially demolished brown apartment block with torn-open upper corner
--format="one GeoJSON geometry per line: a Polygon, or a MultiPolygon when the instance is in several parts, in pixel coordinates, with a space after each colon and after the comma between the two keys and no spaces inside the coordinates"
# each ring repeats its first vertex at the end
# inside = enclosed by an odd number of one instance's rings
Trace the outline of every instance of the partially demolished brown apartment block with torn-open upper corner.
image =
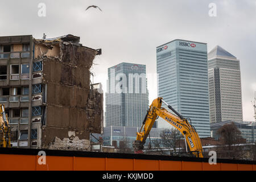
{"type": "Polygon", "coordinates": [[[88,150],[103,131],[101,84],[90,83],[97,50],[65,35],[0,37],[0,104],[13,147],[88,150]]]}

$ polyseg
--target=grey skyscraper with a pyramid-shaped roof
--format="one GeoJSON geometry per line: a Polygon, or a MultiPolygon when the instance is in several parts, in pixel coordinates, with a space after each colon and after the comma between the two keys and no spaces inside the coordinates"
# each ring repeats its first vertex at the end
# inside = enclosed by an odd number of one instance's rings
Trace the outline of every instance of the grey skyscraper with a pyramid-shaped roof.
{"type": "Polygon", "coordinates": [[[210,123],[242,122],[240,60],[220,46],[208,53],[210,123]]]}

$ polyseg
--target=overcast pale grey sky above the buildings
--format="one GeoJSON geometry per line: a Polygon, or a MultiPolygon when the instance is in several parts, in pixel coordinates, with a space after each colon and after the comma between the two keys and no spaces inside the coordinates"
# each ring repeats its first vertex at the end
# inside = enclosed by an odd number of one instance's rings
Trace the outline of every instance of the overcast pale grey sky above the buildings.
{"type": "MultiPolygon", "coordinates": [[[[121,62],[146,64],[156,74],[156,47],[174,39],[216,45],[240,60],[243,120],[254,121],[251,100],[256,91],[256,0],[1,0],[0,36],[33,35],[54,38],[80,36],[87,47],[102,48],[92,71],[106,90],[109,67],[121,62]],[[46,16],[38,16],[45,3],[46,16]],[[216,17],[209,16],[216,4],[216,17]],[[97,5],[102,11],[86,7],[97,5]]],[[[148,77],[150,103],[157,97],[156,81],[148,77]]]]}

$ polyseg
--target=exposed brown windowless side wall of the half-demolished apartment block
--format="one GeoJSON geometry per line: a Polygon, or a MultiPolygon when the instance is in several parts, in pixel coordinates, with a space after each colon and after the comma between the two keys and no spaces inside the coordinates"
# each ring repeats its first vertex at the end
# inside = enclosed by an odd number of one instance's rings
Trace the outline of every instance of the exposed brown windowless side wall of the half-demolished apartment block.
{"type": "MultiPolygon", "coordinates": [[[[35,59],[42,60],[42,84],[47,88],[42,148],[65,150],[63,142],[61,147],[61,142],[56,141],[69,138],[70,142],[71,132],[80,144],[83,139],[89,139],[90,132],[101,133],[103,94],[90,89],[89,70],[96,53],[81,44],[59,39],[35,40],[35,59]]],[[[71,148],[77,150],[77,147],[71,148]]]]}

